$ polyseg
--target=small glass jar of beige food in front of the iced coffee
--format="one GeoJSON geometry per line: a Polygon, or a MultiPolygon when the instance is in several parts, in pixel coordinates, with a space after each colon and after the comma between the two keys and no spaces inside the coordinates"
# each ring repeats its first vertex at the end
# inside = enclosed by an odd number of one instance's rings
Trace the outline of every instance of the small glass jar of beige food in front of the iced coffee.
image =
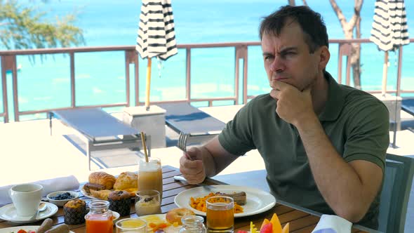
{"type": "Polygon", "coordinates": [[[142,190],[135,196],[135,213],[138,216],[161,213],[161,199],[157,190],[142,190]]]}

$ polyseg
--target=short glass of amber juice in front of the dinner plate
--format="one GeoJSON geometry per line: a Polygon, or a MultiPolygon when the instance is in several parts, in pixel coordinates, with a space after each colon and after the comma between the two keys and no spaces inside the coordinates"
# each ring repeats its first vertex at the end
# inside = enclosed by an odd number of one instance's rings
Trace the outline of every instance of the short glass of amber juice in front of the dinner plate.
{"type": "Polygon", "coordinates": [[[208,232],[234,231],[234,200],[216,196],[206,200],[208,232]]]}

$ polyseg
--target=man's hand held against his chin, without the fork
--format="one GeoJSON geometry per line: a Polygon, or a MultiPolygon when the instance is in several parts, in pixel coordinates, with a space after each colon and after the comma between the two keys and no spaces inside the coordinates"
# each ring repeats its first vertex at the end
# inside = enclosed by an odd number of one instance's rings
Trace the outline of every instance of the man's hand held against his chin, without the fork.
{"type": "Polygon", "coordinates": [[[270,86],[270,96],[277,100],[276,113],[284,121],[297,126],[302,119],[315,114],[310,86],[303,91],[283,81],[272,81],[270,86]]]}

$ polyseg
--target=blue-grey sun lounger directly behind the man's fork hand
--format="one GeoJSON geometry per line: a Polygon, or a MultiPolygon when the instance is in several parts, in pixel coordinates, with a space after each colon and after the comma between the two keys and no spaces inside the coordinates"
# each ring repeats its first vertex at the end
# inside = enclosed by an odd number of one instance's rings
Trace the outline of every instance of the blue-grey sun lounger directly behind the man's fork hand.
{"type": "Polygon", "coordinates": [[[214,138],[225,128],[225,123],[193,107],[187,102],[159,104],[166,109],[166,125],[177,133],[189,135],[187,145],[214,138]]]}

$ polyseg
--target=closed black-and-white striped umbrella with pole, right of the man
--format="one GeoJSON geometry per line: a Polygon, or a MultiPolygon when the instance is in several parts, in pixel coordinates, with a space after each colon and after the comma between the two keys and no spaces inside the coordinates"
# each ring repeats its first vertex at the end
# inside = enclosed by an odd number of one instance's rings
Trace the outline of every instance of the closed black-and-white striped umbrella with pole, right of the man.
{"type": "Polygon", "coordinates": [[[403,0],[375,1],[373,28],[370,41],[378,45],[378,49],[385,51],[385,60],[382,68],[382,95],[387,87],[388,52],[396,51],[399,46],[410,43],[408,39],[408,25],[406,7],[403,0]]]}

